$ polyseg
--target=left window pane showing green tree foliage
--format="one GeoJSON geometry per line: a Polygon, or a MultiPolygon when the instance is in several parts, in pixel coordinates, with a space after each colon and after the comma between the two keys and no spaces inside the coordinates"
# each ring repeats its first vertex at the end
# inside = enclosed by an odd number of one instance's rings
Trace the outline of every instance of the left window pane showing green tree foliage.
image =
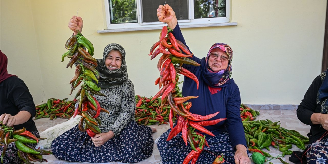
{"type": "Polygon", "coordinates": [[[137,22],[137,7],[135,0],[109,0],[111,23],[137,22]]]}

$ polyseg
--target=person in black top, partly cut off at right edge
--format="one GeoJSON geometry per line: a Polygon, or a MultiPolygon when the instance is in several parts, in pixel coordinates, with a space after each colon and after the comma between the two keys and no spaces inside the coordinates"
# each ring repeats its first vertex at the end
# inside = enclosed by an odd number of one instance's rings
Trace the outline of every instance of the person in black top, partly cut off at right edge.
{"type": "MultiPolygon", "coordinates": [[[[328,70],[327,70],[328,71],[328,70]]],[[[296,164],[328,163],[328,77],[319,74],[297,107],[297,118],[310,125],[309,145],[303,152],[292,154],[289,161],[296,164]],[[300,161],[300,160],[301,161],[300,161]]]]}

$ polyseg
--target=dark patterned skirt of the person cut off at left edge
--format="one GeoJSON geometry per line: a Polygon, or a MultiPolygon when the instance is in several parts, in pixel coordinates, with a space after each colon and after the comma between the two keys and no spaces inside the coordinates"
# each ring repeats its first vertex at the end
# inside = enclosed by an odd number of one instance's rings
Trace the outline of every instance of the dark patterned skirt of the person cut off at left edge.
{"type": "MultiPolygon", "coordinates": [[[[40,137],[40,134],[38,130],[32,131],[32,134],[34,134],[36,137],[40,137]]],[[[36,144],[30,144],[31,146],[35,147],[36,144]]],[[[0,146],[0,152],[2,153],[3,151],[3,146],[0,146]]],[[[23,162],[17,155],[17,147],[15,145],[15,142],[11,142],[8,145],[7,151],[5,152],[5,157],[3,158],[3,163],[10,163],[10,164],[20,164],[23,162]]]]}

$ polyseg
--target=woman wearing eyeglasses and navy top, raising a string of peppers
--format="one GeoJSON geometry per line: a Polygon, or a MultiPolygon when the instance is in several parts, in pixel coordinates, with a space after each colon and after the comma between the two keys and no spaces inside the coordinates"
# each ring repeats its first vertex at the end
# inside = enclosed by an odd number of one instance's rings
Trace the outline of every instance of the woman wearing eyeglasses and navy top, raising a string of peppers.
{"type": "MultiPolygon", "coordinates": [[[[160,5],[157,9],[157,17],[160,22],[167,23],[173,29],[176,40],[186,45],[182,36],[174,10],[169,5],[160,5]]],[[[189,48],[188,48],[189,49],[189,48]]],[[[215,137],[206,135],[210,146],[204,147],[197,163],[209,163],[215,160],[217,155],[223,154],[228,163],[250,164],[244,128],[240,118],[240,93],[235,81],[231,79],[233,51],[227,44],[215,43],[208,51],[206,57],[200,59],[193,55],[192,60],[200,63],[200,66],[182,65],[185,69],[194,73],[199,80],[199,89],[196,83],[185,77],[183,81],[183,96],[199,96],[190,99],[192,107],[189,112],[207,115],[220,112],[210,120],[227,118],[213,126],[205,128],[215,134],[215,137]],[[213,155],[215,154],[215,155],[213,155]]],[[[164,164],[182,163],[192,150],[190,145],[185,145],[181,133],[166,141],[169,129],[163,133],[157,147],[164,164]]]]}

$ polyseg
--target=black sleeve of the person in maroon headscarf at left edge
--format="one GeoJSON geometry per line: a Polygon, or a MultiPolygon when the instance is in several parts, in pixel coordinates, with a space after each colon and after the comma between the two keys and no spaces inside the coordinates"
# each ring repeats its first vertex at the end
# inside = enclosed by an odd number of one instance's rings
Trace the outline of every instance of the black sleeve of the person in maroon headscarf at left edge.
{"type": "Polygon", "coordinates": [[[15,83],[11,84],[12,87],[10,87],[9,90],[9,97],[12,101],[11,103],[14,104],[20,111],[28,111],[31,113],[31,117],[35,116],[35,105],[33,102],[32,95],[26,86],[26,84],[23,82],[23,80],[17,78],[15,80],[15,83]]]}

